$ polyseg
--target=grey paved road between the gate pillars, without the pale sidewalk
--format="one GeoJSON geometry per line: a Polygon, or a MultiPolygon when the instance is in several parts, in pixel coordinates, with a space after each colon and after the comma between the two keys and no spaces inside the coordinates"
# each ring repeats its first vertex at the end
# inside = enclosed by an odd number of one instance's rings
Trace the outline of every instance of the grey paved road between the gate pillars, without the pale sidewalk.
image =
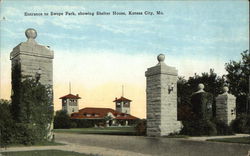
{"type": "Polygon", "coordinates": [[[130,156],[247,156],[250,150],[245,144],[142,136],[56,133],[56,141],[133,152],[130,156]]]}

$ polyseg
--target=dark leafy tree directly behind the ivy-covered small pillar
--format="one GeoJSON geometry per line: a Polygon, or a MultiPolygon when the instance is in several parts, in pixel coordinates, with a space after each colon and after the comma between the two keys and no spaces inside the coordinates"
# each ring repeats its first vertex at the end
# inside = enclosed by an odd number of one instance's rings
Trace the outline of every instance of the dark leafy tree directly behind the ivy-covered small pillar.
{"type": "Polygon", "coordinates": [[[193,113],[191,112],[191,95],[198,90],[198,84],[203,83],[206,92],[212,94],[213,97],[213,114],[215,115],[215,97],[222,93],[222,88],[225,84],[224,79],[218,76],[213,69],[210,69],[209,73],[202,73],[201,76],[195,74],[193,77],[189,77],[185,80],[183,77],[179,77],[177,82],[177,96],[178,96],[178,119],[188,120],[192,119],[193,113]]]}

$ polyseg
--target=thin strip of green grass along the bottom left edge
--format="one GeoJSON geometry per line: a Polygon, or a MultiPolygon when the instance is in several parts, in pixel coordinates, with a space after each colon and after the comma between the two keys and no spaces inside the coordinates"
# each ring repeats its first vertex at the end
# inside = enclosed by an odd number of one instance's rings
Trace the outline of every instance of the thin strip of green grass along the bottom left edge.
{"type": "Polygon", "coordinates": [[[3,152],[2,156],[97,156],[81,154],[76,152],[60,150],[37,150],[37,151],[20,151],[20,152],[3,152]]]}

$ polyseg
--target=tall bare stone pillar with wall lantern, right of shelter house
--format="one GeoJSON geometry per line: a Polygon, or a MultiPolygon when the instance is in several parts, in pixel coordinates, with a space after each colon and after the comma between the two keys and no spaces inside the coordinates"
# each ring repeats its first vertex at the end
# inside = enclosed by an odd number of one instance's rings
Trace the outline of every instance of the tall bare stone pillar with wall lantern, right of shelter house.
{"type": "Polygon", "coordinates": [[[163,54],[157,59],[159,63],[145,73],[148,136],[165,136],[181,128],[181,123],[177,121],[178,71],[164,63],[163,54]]]}

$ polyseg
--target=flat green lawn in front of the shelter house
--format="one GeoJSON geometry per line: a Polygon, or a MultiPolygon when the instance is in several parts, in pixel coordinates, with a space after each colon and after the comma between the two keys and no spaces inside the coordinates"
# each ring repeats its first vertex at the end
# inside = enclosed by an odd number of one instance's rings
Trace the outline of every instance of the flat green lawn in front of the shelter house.
{"type": "Polygon", "coordinates": [[[54,129],[54,132],[77,134],[135,135],[134,127],[54,129]]]}

